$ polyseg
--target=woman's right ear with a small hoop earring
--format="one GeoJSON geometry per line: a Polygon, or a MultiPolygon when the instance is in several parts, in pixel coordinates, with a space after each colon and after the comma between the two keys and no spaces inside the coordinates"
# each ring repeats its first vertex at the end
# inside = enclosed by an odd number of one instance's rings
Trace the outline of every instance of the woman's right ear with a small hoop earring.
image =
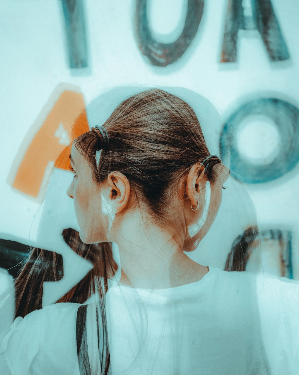
{"type": "Polygon", "coordinates": [[[200,191],[205,187],[207,178],[204,176],[204,166],[199,163],[192,165],[186,183],[186,194],[192,207],[196,207],[200,197],[200,191]]]}

